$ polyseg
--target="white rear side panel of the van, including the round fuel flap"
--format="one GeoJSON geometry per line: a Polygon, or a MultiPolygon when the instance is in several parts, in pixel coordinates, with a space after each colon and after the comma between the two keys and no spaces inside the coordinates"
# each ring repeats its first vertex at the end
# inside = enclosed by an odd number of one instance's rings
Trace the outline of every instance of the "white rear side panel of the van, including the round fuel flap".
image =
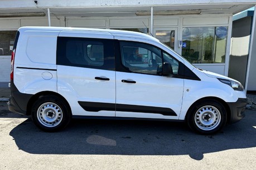
{"type": "Polygon", "coordinates": [[[21,31],[16,48],[14,83],[21,93],[57,92],[57,31],[21,31]]]}

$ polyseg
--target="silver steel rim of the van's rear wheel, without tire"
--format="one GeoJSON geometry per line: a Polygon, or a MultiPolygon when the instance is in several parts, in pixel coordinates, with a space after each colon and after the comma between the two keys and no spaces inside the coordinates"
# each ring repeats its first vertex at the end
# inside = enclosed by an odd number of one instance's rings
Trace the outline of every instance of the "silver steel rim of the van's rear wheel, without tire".
{"type": "Polygon", "coordinates": [[[46,127],[55,127],[60,124],[63,117],[61,108],[52,102],[42,104],[37,109],[37,119],[46,127]]]}

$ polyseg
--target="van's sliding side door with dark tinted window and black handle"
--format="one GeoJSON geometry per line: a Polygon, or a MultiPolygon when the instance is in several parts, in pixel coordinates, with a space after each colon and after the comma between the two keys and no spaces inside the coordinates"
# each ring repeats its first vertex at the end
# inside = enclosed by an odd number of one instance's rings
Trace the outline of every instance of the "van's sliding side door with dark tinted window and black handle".
{"type": "Polygon", "coordinates": [[[57,38],[57,79],[57,91],[73,115],[115,116],[113,36],[62,31],[57,38]]]}

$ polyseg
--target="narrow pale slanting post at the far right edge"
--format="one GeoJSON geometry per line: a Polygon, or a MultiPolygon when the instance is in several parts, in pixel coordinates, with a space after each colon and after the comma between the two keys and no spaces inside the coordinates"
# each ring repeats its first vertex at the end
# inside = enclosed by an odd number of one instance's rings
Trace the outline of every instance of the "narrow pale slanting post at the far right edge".
{"type": "Polygon", "coordinates": [[[250,59],[252,58],[252,51],[253,51],[253,38],[254,38],[254,32],[255,32],[255,22],[256,22],[256,5],[254,6],[254,14],[253,14],[253,24],[252,24],[252,34],[250,35],[250,48],[249,48],[249,55],[248,55],[248,62],[247,62],[247,71],[246,71],[246,77],[245,77],[245,84],[244,89],[247,93],[247,87],[248,87],[248,79],[249,79],[249,72],[250,72],[250,59]]]}

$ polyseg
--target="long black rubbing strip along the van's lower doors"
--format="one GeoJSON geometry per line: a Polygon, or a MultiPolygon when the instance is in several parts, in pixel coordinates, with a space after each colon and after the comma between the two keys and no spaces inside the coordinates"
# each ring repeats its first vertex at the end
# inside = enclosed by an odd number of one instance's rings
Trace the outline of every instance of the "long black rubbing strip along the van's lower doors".
{"type": "Polygon", "coordinates": [[[170,108],[152,107],[152,106],[137,106],[132,104],[113,104],[113,103],[98,103],[98,102],[78,102],[80,106],[88,112],[99,111],[120,111],[120,112],[139,112],[139,113],[156,113],[164,116],[177,116],[170,108]]]}

